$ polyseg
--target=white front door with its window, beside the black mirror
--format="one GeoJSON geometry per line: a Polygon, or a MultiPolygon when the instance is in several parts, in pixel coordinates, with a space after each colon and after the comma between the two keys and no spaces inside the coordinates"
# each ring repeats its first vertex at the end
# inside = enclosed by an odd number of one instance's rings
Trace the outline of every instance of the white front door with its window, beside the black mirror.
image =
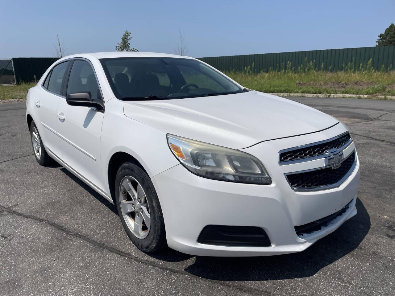
{"type": "MultiPolygon", "coordinates": [[[[65,94],[89,91],[94,101],[103,104],[92,64],[85,59],[74,60],[66,81],[65,94]]],[[[58,135],[62,160],[85,179],[103,189],[100,165],[100,134],[104,112],[93,107],[70,106],[66,98],[57,108],[58,135]]]]}

